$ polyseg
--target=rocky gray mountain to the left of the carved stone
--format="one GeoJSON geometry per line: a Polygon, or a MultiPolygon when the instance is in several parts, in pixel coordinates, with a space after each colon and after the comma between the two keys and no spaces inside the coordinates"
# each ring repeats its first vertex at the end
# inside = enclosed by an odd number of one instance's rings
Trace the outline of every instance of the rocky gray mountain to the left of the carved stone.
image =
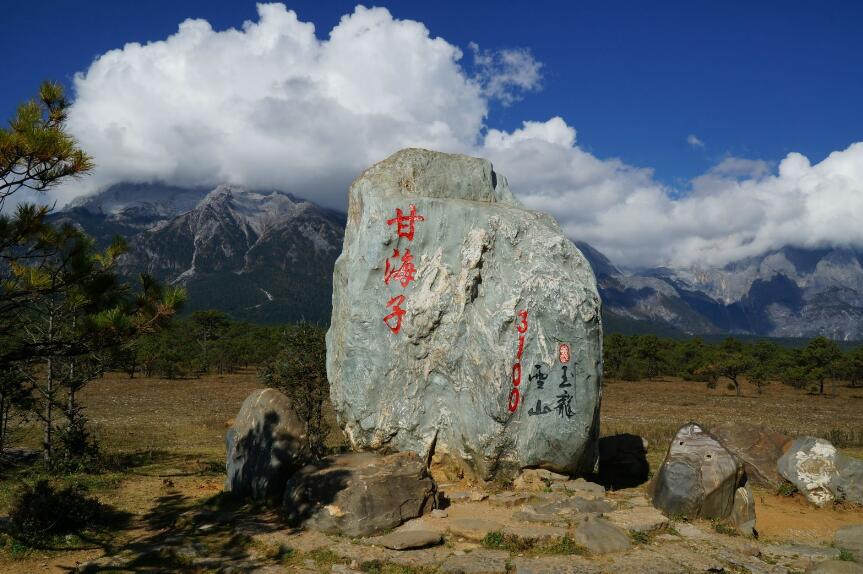
{"type": "Polygon", "coordinates": [[[329,321],[342,213],[278,190],[121,185],[57,218],[102,243],[124,235],[121,271],[185,285],[191,309],[262,322],[329,321]]]}

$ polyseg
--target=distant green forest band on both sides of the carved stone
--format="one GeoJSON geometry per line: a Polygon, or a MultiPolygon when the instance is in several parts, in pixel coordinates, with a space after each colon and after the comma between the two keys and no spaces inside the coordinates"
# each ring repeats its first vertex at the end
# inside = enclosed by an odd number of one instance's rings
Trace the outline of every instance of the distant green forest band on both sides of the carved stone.
{"type": "MultiPolygon", "coordinates": [[[[323,345],[326,328],[315,325],[255,325],[218,311],[198,311],[175,320],[125,348],[114,369],[129,376],[195,377],[263,365],[285,350],[302,330],[323,345]]],[[[680,377],[737,391],[760,391],[784,383],[819,393],[842,382],[863,385],[863,345],[847,346],[819,337],[811,340],[677,339],[656,335],[606,335],[605,377],[625,381],[680,377]]]]}

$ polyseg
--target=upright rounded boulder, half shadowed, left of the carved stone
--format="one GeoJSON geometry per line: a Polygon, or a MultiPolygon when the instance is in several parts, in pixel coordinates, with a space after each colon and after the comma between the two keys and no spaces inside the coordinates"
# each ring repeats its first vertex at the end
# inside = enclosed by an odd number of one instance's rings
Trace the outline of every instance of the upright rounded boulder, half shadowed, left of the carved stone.
{"type": "Polygon", "coordinates": [[[276,389],[252,391],[225,436],[225,492],[281,500],[291,472],[308,457],[306,426],[276,389]]]}

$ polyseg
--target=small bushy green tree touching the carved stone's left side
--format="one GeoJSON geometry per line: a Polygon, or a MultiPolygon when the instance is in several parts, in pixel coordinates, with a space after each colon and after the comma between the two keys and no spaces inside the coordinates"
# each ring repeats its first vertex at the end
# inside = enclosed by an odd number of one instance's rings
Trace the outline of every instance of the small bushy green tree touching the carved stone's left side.
{"type": "Polygon", "coordinates": [[[324,420],[324,403],[330,392],[324,335],[324,329],[308,323],[288,327],[281,352],[260,370],[264,384],[291,399],[306,424],[309,448],[317,454],[323,453],[329,431],[324,420]]]}

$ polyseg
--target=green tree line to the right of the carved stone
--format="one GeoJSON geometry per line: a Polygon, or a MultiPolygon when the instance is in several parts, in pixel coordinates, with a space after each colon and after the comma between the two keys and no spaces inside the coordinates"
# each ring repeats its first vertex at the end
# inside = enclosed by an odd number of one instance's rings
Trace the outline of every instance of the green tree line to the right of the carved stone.
{"type": "Polygon", "coordinates": [[[835,342],[816,337],[802,347],[773,341],[744,342],[728,337],[710,344],[695,337],[665,339],[654,335],[606,336],[603,348],[605,376],[625,381],[660,376],[703,381],[715,387],[720,381],[740,394],[744,382],[760,393],[765,385],[780,382],[824,394],[829,382],[863,385],[863,346],[843,351],[835,342]]]}

